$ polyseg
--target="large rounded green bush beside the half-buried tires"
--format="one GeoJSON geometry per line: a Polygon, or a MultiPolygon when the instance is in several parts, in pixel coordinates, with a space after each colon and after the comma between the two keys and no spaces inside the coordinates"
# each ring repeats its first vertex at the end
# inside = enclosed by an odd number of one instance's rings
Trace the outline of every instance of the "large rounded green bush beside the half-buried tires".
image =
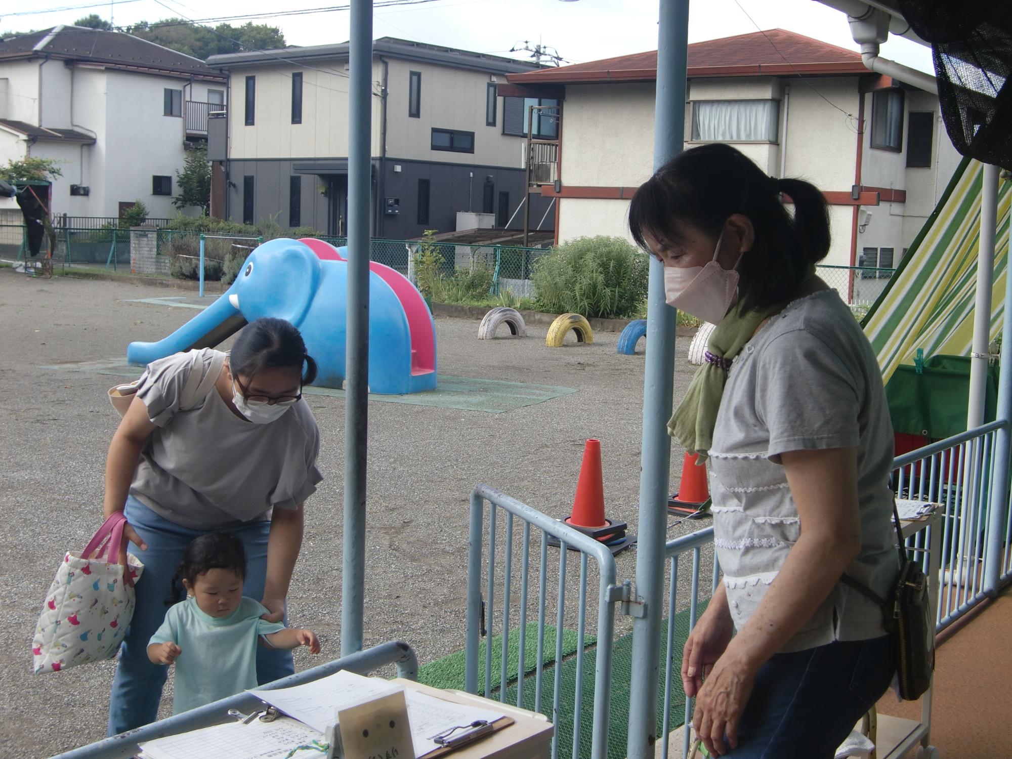
{"type": "Polygon", "coordinates": [[[622,238],[571,240],[534,264],[537,308],[601,319],[635,315],[647,297],[649,264],[647,254],[622,238]]]}

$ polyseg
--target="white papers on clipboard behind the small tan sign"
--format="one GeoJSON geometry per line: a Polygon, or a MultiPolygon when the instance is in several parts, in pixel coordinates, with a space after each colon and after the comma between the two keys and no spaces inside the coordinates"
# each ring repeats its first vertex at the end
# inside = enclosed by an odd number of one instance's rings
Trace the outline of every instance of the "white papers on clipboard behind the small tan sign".
{"type": "MultiPolygon", "coordinates": [[[[340,709],[396,690],[402,688],[385,680],[342,671],[305,685],[250,692],[323,733],[340,709]]],[[[449,728],[477,720],[491,723],[503,716],[500,711],[444,701],[411,688],[403,690],[411,723],[411,742],[418,757],[439,748],[432,739],[449,728]]]]}

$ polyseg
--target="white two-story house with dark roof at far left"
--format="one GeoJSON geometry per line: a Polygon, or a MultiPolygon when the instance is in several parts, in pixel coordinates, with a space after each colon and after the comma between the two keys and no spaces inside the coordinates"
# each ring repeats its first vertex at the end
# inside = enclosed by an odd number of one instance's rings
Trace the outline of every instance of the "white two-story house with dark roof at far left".
{"type": "MultiPolygon", "coordinates": [[[[55,216],[175,215],[176,171],[224,111],[227,77],[118,31],[54,26],[0,40],[0,164],[58,162],[55,216]]],[[[8,201],[11,202],[11,201],[8,201]]],[[[11,205],[11,207],[16,207],[11,205]]]]}

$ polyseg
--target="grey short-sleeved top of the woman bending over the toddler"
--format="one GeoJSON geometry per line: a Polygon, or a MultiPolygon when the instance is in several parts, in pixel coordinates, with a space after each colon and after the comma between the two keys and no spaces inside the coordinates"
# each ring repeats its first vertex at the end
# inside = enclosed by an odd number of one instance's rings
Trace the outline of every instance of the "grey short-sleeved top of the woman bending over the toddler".
{"type": "MultiPolygon", "coordinates": [[[[207,371],[214,351],[199,351],[207,371]]],[[[141,452],[131,495],[191,529],[225,529],[293,509],[316,491],[320,432],[300,401],[268,424],[240,419],[217,390],[193,409],[179,409],[190,353],[148,365],[138,398],[157,425],[141,452]]],[[[197,364],[200,365],[200,364],[197,364]]]]}

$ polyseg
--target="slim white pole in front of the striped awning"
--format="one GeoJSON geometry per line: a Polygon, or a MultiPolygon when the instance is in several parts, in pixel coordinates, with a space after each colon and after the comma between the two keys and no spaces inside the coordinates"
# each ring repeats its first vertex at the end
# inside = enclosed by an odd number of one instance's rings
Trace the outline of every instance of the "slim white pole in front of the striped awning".
{"type": "Polygon", "coordinates": [[[998,167],[985,164],[981,188],[981,235],[977,256],[977,304],[974,307],[974,347],[969,359],[969,401],[966,429],[984,424],[991,344],[991,288],[995,273],[995,227],[998,216],[998,167]]]}

